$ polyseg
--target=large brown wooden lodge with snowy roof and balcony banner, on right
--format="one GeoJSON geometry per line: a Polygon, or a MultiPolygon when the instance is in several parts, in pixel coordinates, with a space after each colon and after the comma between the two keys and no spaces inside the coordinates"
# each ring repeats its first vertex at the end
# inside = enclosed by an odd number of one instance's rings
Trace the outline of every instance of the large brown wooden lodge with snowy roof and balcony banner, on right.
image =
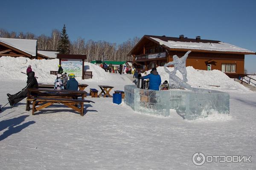
{"type": "Polygon", "coordinates": [[[149,70],[172,61],[172,56],[182,57],[192,51],[186,66],[200,70],[220,70],[225,73],[244,74],[244,55],[253,51],[221,41],[179,37],[144,35],[127,56],[133,57],[138,70],[149,70]]]}

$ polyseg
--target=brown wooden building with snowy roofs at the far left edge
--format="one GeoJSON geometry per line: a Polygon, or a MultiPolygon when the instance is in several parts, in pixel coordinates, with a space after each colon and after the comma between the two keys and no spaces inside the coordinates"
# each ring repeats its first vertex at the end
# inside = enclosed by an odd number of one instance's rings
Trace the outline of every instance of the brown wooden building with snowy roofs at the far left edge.
{"type": "Polygon", "coordinates": [[[37,40],[0,38],[0,57],[28,57],[30,59],[55,59],[57,51],[37,50],[37,40]]]}

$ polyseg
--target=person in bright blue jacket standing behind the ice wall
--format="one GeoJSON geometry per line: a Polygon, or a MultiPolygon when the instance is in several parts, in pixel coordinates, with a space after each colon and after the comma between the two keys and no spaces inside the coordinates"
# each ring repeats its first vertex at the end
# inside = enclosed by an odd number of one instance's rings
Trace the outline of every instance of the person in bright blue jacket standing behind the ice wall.
{"type": "Polygon", "coordinates": [[[149,90],[159,90],[159,86],[161,85],[161,77],[157,72],[157,68],[152,68],[150,74],[141,77],[141,79],[149,79],[149,90]]]}

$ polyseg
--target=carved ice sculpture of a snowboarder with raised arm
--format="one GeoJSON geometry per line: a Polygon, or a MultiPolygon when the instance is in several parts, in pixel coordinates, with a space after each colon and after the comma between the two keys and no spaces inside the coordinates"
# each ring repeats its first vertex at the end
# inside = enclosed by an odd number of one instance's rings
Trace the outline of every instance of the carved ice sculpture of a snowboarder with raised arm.
{"type": "Polygon", "coordinates": [[[174,88],[186,88],[186,89],[191,89],[191,86],[186,83],[188,80],[186,78],[187,72],[186,72],[186,59],[191,51],[186,52],[186,54],[179,58],[177,55],[174,55],[172,57],[173,61],[168,62],[167,64],[164,65],[164,70],[169,74],[169,89],[174,89],[174,88]],[[174,70],[169,71],[167,66],[173,65],[174,70]],[[182,74],[183,80],[180,79],[179,77],[176,76],[176,72],[180,71],[182,74]]]}

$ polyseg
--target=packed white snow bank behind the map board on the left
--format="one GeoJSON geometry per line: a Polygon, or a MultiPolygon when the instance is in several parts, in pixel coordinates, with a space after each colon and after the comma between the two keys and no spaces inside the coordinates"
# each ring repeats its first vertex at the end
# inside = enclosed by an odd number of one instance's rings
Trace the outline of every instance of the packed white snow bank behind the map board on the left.
{"type": "MultiPolygon", "coordinates": [[[[58,59],[29,59],[26,57],[0,57],[0,76],[2,79],[21,79],[26,80],[26,69],[28,65],[31,65],[32,71],[35,72],[35,76],[38,77],[38,82],[53,83],[56,79],[55,75],[51,75],[50,71],[58,71],[58,59]]],[[[86,65],[86,71],[93,72],[93,78],[87,79],[86,81],[100,81],[109,78],[109,74],[106,73],[102,68],[89,62],[84,62],[86,65]]],[[[81,77],[76,79],[79,82],[81,77]]]]}

